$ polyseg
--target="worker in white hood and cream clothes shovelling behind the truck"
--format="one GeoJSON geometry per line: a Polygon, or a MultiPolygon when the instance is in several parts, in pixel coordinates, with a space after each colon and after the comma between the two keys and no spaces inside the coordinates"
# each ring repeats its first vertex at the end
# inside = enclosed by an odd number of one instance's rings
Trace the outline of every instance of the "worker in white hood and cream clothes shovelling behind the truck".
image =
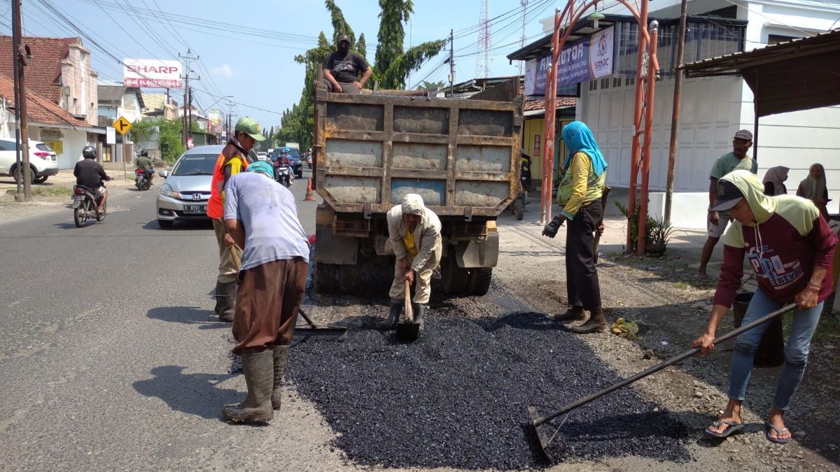
{"type": "Polygon", "coordinates": [[[409,193],[402,198],[402,205],[395,205],[387,214],[388,235],[396,255],[394,283],[391,285],[391,313],[380,323],[380,328],[390,329],[400,318],[402,304],[407,294],[405,281],[417,282],[412,299],[414,321],[423,329],[426,306],[432,295],[432,273],[440,264],[443,245],[440,239],[440,219],[423,205],[423,197],[409,193]]]}

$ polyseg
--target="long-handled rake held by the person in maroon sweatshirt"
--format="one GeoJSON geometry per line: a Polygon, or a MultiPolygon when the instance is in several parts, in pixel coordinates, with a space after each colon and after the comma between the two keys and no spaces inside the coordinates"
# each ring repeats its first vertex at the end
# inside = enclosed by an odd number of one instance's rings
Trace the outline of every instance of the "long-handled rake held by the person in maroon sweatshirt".
{"type": "MultiPolygon", "coordinates": [[[[724,341],[728,341],[729,339],[735,338],[736,336],[738,336],[738,334],[741,334],[745,331],[753,329],[753,328],[759,326],[760,324],[767,323],[767,322],[773,320],[775,317],[780,317],[781,315],[785,314],[786,312],[790,312],[790,310],[793,310],[795,307],[796,307],[796,303],[789,303],[789,304],[785,305],[784,307],[781,307],[780,309],[776,310],[775,312],[772,312],[772,313],[769,313],[767,315],[764,315],[763,317],[760,317],[759,319],[753,321],[753,323],[745,324],[741,328],[734,329],[734,330],[730,331],[729,333],[726,333],[726,334],[723,334],[722,336],[719,336],[718,338],[716,338],[713,341],[713,344],[716,344],[716,345],[721,344],[724,341]]],[[[656,364],[653,367],[648,368],[648,370],[643,370],[642,372],[639,372],[638,374],[633,375],[632,377],[624,379],[624,380],[618,382],[617,384],[610,385],[602,391],[598,391],[596,393],[593,393],[590,396],[585,396],[584,398],[581,398],[580,400],[573,401],[570,404],[568,404],[568,405],[566,405],[566,406],[564,406],[564,407],[562,407],[559,410],[556,410],[554,412],[549,412],[549,413],[546,413],[544,415],[540,415],[539,412],[537,411],[537,406],[534,406],[534,405],[528,406],[528,415],[531,416],[531,426],[533,426],[534,429],[537,432],[537,438],[539,438],[539,445],[543,449],[543,454],[545,454],[545,456],[547,458],[551,459],[551,456],[550,456],[549,451],[548,451],[549,445],[554,442],[554,438],[557,438],[557,434],[560,432],[560,427],[563,427],[563,423],[566,421],[566,419],[569,418],[569,415],[567,414],[566,417],[563,419],[563,422],[560,422],[559,426],[556,427],[556,429],[554,430],[554,433],[549,435],[548,425],[551,424],[550,421],[553,420],[554,418],[559,417],[560,415],[562,415],[564,413],[569,413],[572,410],[574,410],[575,408],[579,408],[580,406],[584,406],[585,404],[589,403],[590,401],[597,400],[598,398],[601,398],[601,396],[605,396],[608,393],[612,393],[613,391],[617,391],[620,388],[623,388],[627,385],[630,385],[633,382],[635,382],[636,380],[643,379],[644,377],[647,377],[648,375],[659,372],[659,370],[663,370],[665,367],[668,367],[669,365],[676,364],[676,363],[681,362],[685,359],[688,359],[691,356],[693,356],[694,354],[697,354],[699,352],[700,352],[700,348],[691,348],[691,349],[685,351],[682,354],[676,355],[675,357],[672,357],[672,358],[662,362],[661,364],[656,364]]],[[[554,426],[554,425],[552,425],[552,426],[554,426]]]]}

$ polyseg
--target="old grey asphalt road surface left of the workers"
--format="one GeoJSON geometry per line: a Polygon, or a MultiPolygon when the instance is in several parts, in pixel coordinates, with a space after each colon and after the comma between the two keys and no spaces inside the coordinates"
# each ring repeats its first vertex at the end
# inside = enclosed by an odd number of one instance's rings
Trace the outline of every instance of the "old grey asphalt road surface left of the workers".
{"type": "MultiPolygon", "coordinates": [[[[228,374],[230,325],[213,321],[213,227],[158,228],[160,185],[115,193],[85,228],[69,208],[0,224],[0,469],[314,464],[284,454],[282,428],[221,421],[244,382],[228,374]]],[[[312,233],[305,190],[291,187],[312,233]]]]}

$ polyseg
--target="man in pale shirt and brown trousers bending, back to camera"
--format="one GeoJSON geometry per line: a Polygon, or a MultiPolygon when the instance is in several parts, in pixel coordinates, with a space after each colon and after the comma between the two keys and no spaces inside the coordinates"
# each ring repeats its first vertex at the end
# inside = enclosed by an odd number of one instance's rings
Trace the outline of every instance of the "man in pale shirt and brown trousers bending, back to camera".
{"type": "Polygon", "coordinates": [[[257,161],[224,187],[225,243],[243,249],[236,291],[234,354],[242,356],[248,396],[228,405],[233,422],[262,422],[281,406],[281,385],[297,308],[307,286],[309,243],[295,198],[257,161]]]}

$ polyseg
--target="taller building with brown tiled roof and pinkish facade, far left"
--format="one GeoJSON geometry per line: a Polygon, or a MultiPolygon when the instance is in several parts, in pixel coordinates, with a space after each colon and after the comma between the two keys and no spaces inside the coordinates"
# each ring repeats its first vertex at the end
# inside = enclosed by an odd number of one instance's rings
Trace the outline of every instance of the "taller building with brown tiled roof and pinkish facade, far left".
{"type": "MultiPolygon", "coordinates": [[[[32,60],[26,67],[26,87],[76,118],[97,124],[97,72],[81,38],[24,36],[32,60]]],[[[0,50],[12,50],[12,37],[0,35],[0,50]]],[[[11,54],[0,55],[0,74],[14,76],[11,54]]]]}

